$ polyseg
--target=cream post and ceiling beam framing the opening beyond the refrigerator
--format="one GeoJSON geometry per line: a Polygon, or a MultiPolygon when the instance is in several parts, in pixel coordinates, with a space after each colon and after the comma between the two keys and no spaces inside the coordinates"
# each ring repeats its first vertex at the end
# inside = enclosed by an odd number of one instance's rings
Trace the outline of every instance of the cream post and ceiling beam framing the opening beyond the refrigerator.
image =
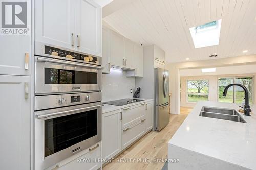
{"type": "Polygon", "coordinates": [[[169,70],[169,89],[172,93],[171,113],[180,114],[180,69],[224,67],[231,65],[248,65],[256,63],[256,55],[228,57],[204,61],[191,61],[182,63],[167,63],[169,70]]]}

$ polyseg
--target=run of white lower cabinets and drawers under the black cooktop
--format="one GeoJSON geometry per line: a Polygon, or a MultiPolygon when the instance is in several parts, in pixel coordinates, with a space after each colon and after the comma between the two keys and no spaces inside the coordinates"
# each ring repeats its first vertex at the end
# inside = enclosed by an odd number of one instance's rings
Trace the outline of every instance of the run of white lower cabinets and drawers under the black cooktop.
{"type": "Polygon", "coordinates": [[[102,158],[111,159],[153,128],[153,101],[102,114],[102,158]]]}

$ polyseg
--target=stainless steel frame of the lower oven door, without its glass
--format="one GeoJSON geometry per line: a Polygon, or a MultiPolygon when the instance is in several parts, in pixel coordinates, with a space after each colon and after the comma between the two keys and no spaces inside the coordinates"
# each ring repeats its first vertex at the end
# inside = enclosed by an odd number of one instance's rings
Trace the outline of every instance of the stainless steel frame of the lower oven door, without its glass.
{"type": "MultiPolygon", "coordinates": [[[[91,106],[94,106],[94,105],[100,105],[101,102],[96,102],[96,103],[90,103],[90,104],[84,104],[84,105],[80,105],[80,106],[70,106],[70,107],[65,107],[65,108],[57,108],[57,109],[50,109],[50,110],[46,110],[46,111],[36,111],[35,112],[35,118],[37,118],[37,114],[41,115],[41,114],[44,114],[44,113],[51,113],[51,112],[54,112],[54,111],[65,111],[65,110],[70,110],[70,109],[75,109],[77,107],[79,108],[88,108],[88,107],[91,107],[91,106]]],[[[91,109],[87,109],[87,111],[90,111],[90,110],[94,110],[95,108],[98,108],[98,125],[97,125],[97,131],[98,131],[98,134],[89,138],[89,139],[86,139],[84,141],[81,141],[77,144],[74,144],[72,145],[71,147],[69,148],[66,148],[64,150],[61,150],[59,152],[56,152],[52,155],[49,155],[47,157],[45,157],[45,153],[44,154],[44,161],[41,165],[42,169],[46,169],[46,168],[49,168],[51,166],[53,166],[54,164],[57,164],[58,162],[72,156],[73,154],[75,153],[78,153],[80,151],[83,151],[85,149],[88,149],[89,147],[91,147],[92,145],[96,144],[97,142],[101,141],[101,118],[102,118],[102,108],[101,106],[98,106],[98,107],[93,107],[91,109]],[[75,153],[72,153],[73,150],[77,149],[80,147],[80,150],[75,152],[75,153]]],[[[83,110],[84,111],[84,110],[83,110]]],[[[52,118],[56,118],[56,117],[61,117],[61,116],[67,116],[67,115],[71,115],[71,114],[76,114],[76,113],[79,113],[80,111],[74,111],[73,113],[67,113],[67,114],[61,114],[61,115],[55,115],[55,116],[52,116],[52,117],[47,117],[47,118],[41,118],[41,119],[38,119],[40,121],[45,121],[47,119],[52,119],[52,118]]],[[[45,127],[42,127],[43,128],[43,134],[41,135],[44,135],[44,147],[45,147],[45,127]]],[[[35,135],[38,135],[38,134],[35,134],[35,135]]]]}

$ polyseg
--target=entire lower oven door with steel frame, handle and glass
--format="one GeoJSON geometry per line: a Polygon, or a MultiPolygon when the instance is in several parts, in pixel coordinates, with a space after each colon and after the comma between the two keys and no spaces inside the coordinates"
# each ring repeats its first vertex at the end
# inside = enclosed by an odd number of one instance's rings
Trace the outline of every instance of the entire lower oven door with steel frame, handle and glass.
{"type": "Polygon", "coordinates": [[[35,112],[35,164],[51,167],[101,141],[101,102],[35,112]]]}

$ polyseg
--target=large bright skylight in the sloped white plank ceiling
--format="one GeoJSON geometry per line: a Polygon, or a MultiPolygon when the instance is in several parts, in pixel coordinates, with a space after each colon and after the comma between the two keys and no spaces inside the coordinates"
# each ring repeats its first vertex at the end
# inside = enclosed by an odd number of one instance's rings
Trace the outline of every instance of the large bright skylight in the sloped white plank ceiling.
{"type": "Polygon", "coordinates": [[[189,28],[195,48],[219,45],[221,19],[189,28]]]}

